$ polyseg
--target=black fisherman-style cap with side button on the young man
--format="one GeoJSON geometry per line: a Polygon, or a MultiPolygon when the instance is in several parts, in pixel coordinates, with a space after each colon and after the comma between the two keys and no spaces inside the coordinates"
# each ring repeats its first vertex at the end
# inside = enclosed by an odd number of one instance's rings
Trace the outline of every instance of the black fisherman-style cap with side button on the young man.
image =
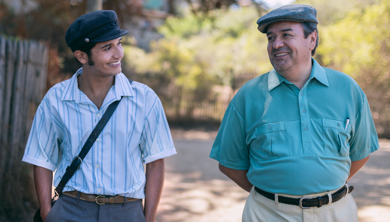
{"type": "Polygon", "coordinates": [[[114,11],[99,10],[78,17],[65,34],[67,46],[72,52],[87,42],[106,42],[129,33],[119,28],[118,17],[114,11]]]}

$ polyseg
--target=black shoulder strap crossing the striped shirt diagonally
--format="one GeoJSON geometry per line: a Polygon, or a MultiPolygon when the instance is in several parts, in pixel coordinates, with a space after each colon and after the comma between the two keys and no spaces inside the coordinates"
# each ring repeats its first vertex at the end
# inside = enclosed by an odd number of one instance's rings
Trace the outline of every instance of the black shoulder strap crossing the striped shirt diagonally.
{"type": "Polygon", "coordinates": [[[71,166],[66,167],[66,173],[64,176],[62,176],[62,179],[60,183],[58,184],[57,188],[55,189],[55,192],[57,192],[56,195],[61,194],[62,190],[64,189],[66,183],[70,180],[70,178],[73,176],[74,172],[80,167],[81,163],[83,162],[84,157],[89,152],[92,145],[95,143],[97,137],[101,133],[101,130],[106,126],[108,120],[110,120],[112,114],[114,113],[115,109],[119,105],[119,102],[121,102],[122,98],[120,100],[116,100],[110,106],[108,106],[106,112],[102,116],[102,118],[97,123],[94,130],[92,130],[91,135],[88,137],[87,142],[85,142],[82,150],[78,154],[78,156],[74,157],[71,166]]]}

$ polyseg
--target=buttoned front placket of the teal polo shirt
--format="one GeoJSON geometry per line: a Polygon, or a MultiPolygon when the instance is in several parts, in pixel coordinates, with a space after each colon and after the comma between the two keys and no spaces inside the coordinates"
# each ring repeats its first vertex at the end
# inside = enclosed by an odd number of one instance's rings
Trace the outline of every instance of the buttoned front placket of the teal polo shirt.
{"type": "Polygon", "coordinates": [[[303,145],[303,153],[313,153],[312,149],[312,140],[310,135],[310,116],[308,112],[307,105],[307,84],[310,80],[306,82],[306,84],[301,88],[298,95],[300,116],[301,116],[301,132],[302,132],[302,145],[303,145]]]}

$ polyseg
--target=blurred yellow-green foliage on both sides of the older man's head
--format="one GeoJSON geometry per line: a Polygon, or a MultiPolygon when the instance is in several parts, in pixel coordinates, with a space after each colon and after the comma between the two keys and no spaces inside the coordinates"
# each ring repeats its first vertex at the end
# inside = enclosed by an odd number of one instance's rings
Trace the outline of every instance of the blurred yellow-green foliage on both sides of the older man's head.
{"type": "MultiPolygon", "coordinates": [[[[380,137],[390,137],[390,0],[298,0],[312,5],[319,20],[316,60],[352,76],[363,88],[380,137]]],[[[125,49],[128,64],[168,90],[207,92],[210,86],[233,86],[241,72],[272,69],[264,34],[257,30],[255,7],[240,12],[209,11],[169,18],[165,36],[151,52],[125,49]],[[164,85],[162,84],[162,85],[164,85]]],[[[234,88],[234,87],[233,87],[234,88]]],[[[199,97],[200,99],[204,97],[199,97]]]]}

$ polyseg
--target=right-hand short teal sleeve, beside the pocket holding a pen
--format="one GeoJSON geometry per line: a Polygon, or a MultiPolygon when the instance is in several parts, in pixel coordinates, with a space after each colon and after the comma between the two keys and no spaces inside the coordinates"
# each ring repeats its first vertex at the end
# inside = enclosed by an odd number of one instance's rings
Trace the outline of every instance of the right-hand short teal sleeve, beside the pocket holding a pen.
{"type": "Polygon", "coordinates": [[[355,129],[351,130],[349,145],[351,161],[364,159],[379,148],[378,135],[367,97],[364,97],[363,106],[356,115],[355,129]]]}

